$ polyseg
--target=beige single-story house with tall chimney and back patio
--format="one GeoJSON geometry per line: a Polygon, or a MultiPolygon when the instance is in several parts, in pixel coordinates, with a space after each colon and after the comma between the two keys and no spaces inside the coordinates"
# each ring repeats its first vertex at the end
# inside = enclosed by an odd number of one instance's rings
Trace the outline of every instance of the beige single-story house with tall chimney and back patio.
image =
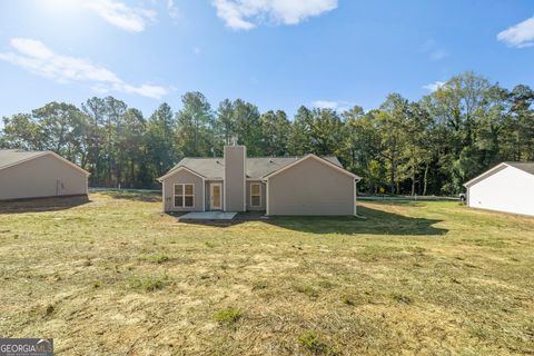
{"type": "Polygon", "coordinates": [[[265,211],[266,215],[356,215],[356,184],[336,157],[184,158],[158,179],[164,210],[265,211]]]}

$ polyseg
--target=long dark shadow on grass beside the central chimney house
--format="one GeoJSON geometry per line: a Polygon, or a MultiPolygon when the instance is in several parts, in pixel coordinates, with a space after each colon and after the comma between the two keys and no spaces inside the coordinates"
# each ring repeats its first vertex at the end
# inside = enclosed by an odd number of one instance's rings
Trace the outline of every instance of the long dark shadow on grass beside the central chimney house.
{"type": "Polygon", "coordinates": [[[250,218],[245,215],[245,218],[234,218],[233,220],[178,220],[180,222],[214,226],[214,227],[230,227],[243,222],[259,220],[269,225],[274,225],[284,229],[312,233],[312,234],[369,234],[369,235],[389,235],[389,236],[439,236],[447,233],[447,229],[437,228],[433,225],[442,220],[411,218],[397,214],[386,212],[383,210],[372,209],[359,206],[358,214],[364,218],[357,217],[327,217],[327,216],[280,216],[261,218],[260,215],[250,218]]]}

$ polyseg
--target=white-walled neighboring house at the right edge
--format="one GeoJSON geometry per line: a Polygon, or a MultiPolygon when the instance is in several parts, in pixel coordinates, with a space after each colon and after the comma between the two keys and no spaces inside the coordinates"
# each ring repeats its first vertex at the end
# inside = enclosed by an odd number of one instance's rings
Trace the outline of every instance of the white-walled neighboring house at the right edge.
{"type": "Polygon", "coordinates": [[[534,162],[503,162],[464,186],[472,208],[534,216],[534,162]]]}

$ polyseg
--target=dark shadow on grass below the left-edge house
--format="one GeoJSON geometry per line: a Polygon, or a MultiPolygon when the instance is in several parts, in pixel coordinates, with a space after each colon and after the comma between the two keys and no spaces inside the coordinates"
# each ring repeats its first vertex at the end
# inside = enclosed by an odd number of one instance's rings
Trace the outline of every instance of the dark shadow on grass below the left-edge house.
{"type": "Polygon", "coordinates": [[[68,196],[2,201],[0,204],[0,215],[66,210],[88,204],[89,201],[90,200],[87,196],[68,196]]]}

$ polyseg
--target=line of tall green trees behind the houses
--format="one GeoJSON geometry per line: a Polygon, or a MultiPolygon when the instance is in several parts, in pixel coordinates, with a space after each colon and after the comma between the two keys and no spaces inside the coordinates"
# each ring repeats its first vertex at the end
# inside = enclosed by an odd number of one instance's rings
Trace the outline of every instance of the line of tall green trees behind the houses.
{"type": "Polygon", "coordinates": [[[455,195],[497,162],[534,160],[534,91],[473,72],[418,101],[392,93],[368,111],[301,106],[293,120],[241,99],[215,109],[200,92],[181,101],[149,117],[113,97],[50,102],[3,117],[0,148],[53,150],[90,171],[93,187],[154,188],[182,157],[220,157],[238,144],[249,157],[334,155],[363,177],[360,191],[411,195],[455,195]]]}

